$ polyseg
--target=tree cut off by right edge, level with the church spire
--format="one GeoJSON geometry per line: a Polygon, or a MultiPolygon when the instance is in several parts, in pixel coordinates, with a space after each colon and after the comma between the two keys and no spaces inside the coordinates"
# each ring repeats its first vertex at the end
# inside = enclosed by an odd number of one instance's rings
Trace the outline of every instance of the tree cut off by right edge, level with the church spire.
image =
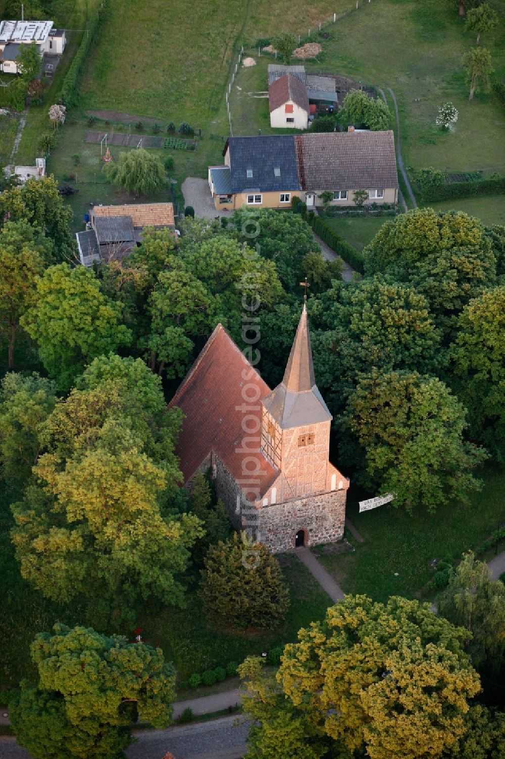
{"type": "Polygon", "coordinates": [[[505,285],[470,301],[450,348],[454,387],[469,411],[472,436],[505,456],[505,285]]]}

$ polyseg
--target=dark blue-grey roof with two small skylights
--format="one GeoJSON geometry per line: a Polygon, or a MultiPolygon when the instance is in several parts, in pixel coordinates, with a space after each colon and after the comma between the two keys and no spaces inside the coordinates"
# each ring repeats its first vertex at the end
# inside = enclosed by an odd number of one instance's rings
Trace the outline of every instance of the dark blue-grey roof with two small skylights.
{"type": "MultiPolygon", "coordinates": [[[[231,187],[240,193],[300,190],[293,135],[268,134],[263,137],[230,137],[231,187]],[[280,168],[280,176],[274,175],[280,168]],[[247,170],[252,177],[247,176],[247,170]]],[[[226,147],[224,149],[226,152],[226,147]]]]}

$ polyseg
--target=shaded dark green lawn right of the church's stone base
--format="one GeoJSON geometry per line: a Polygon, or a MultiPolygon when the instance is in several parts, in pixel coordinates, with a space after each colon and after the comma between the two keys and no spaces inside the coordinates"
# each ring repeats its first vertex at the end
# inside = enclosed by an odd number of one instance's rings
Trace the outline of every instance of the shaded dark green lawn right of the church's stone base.
{"type": "Polygon", "coordinates": [[[433,559],[459,559],[505,521],[505,469],[488,466],[481,477],[484,487],[472,495],[469,505],[454,502],[434,515],[417,512],[411,517],[393,505],[359,514],[358,501],[369,495],[353,489],[347,515],[365,543],[355,543],[355,553],[331,556],[316,551],[346,593],[365,593],[381,601],[391,595],[418,597],[433,576],[433,559]]]}

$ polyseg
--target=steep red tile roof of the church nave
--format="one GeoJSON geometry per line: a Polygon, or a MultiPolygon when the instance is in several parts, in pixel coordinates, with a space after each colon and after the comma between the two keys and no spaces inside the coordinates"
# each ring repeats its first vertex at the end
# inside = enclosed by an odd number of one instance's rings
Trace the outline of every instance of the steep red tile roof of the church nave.
{"type": "MultiPolygon", "coordinates": [[[[246,447],[241,445],[244,437],[259,437],[260,434],[244,432],[242,422],[245,414],[256,417],[261,424],[261,411],[240,410],[244,403],[259,406],[259,403],[244,401],[242,392],[245,385],[256,386],[259,398],[270,392],[268,385],[251,367],[224,327],[218,324],[169,403],[169,408],[178,406],[184,414],[176,449],[184,482],[193,477],[212,450],[236,480],[244,478],[243,459],[251,452],[238,452],[237,449],[246,447]],[[246,380],[242,374],[244,369],[246,380]]],[[[247,392],[252,397],[252,388],[247,392]]],[[[252,427],[252,420],[249,419],[246,424],[252,427]]],[[[253,477],[259,480],[262,496],[279,473],[261,453],[253,451],[252,455],[259,462],[259,473],[253,477]]],[[[247,477],[249,481],[252,479],[252,475],[247,477]]]]}

